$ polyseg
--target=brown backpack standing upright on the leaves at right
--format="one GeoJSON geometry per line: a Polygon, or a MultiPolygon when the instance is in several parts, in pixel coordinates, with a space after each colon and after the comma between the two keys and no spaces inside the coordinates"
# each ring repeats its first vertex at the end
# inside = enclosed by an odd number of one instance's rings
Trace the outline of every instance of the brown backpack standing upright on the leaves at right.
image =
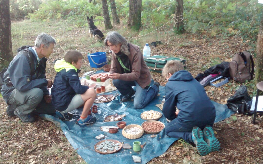
{"type": "Polygon", "coordinates": [[[252,80],[254,76],[254,61],[250,53],[246,51],[235,54],[229,65],[230,77],[244,83],[246,80],[252,80]]]}

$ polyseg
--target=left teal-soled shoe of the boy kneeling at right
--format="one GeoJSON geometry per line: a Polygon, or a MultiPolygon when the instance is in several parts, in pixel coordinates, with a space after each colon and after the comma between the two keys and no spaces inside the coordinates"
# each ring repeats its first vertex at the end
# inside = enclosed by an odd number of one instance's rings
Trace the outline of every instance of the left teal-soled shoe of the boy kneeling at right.
{"type": "Polygon", "coordinates": [[[193,128],[192,140],[196,145],[196,149],[201,156],[204,156],[210,152],[209,145],[203,139],[203,132],[197,126],[193,128]]]}

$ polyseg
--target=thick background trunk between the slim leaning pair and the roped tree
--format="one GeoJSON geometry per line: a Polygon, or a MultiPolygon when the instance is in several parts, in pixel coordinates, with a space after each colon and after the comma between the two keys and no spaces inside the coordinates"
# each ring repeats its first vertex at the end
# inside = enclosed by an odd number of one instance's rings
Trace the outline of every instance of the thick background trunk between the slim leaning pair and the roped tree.
{"type": "Polygon", "coordinates": [[[128,26],[134,30],[141,28],[141,0],[129,0],[128,26]]]}

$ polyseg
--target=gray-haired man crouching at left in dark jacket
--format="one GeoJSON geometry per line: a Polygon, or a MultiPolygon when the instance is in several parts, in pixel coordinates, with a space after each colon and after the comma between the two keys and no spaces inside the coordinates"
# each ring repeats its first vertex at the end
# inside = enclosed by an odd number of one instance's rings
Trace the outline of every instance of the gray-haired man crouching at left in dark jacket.
{"type": "Polygon", "coordinates": [[[37,36],[34,47],[22,46],[4,73],[1,93],[6,101],[7,114],[23,122],[34,122],[32,112],[55,113],[48,88],[52,81],[45,79],[47,58],[54,52],[54,38],[46,33],[37,36]],[[48,88],[47,88],[48,86],[48,88]]]}

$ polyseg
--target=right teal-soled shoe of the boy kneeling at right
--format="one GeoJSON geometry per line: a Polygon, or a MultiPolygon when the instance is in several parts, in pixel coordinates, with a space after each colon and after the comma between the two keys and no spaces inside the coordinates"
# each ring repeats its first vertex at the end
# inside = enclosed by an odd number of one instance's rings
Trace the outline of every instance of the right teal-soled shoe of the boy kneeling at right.
{"type": "Polygon", "coordinates": [[[204,140],[206,141],[206,143],[208,143],[210,147],[210,152],[219,151],[219,149],[221,148],[220,143],[214,135],[214,130],[212,126],[206,125],[203,130],[203,134],[204,134],[204,140]]]}

